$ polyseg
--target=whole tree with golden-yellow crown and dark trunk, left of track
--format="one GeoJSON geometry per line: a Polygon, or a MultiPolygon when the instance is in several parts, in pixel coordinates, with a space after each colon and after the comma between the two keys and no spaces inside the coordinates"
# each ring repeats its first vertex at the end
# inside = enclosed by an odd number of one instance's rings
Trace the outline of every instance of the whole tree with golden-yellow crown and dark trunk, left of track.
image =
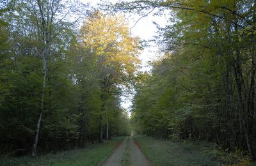
{"type": "MultiPolygon", "coordinates": [[[[83,47],[92,52],[99,65],[100,98],[102,100],[99,116],[99,142],[102,142],[102,122],[106,102],[109,96],[115,95],[118,85],[128,85],[131,82],[138,67],[138,38],[129,34],[127,23],[121,15],[106,16],[99,11],[90,14],[80,31],[83,47]]],[[[109,119],[105,120],[108,137],[109,119]]]]}

